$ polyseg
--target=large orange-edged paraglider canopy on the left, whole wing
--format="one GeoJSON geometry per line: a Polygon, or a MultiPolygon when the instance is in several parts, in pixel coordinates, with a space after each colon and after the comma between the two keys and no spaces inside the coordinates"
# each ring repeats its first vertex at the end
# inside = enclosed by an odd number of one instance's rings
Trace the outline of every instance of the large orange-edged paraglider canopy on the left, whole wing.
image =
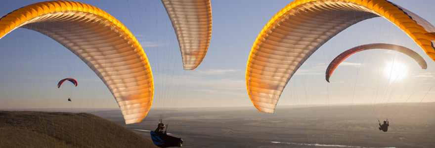
{"type": "Polygon", "coordinates": [[[137,39],[112,15],[81,2],[44,1],[0,18],[0,38],[17,28],[51,37],[85,62],[109,88],[126,124],[145,118],[154,95],[151,67],[137,39]]]}

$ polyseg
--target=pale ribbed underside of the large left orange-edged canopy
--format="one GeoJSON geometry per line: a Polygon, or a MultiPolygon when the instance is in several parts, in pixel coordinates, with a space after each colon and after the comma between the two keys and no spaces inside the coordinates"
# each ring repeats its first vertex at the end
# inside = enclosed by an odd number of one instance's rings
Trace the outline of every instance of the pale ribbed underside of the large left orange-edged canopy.
{"type": "Polygon", "coordinates": [[[46,13],[22,24],[27,24],[22,28],[53,38],[82,59],[107,85],[127,124],[146,116],[153,93],[150,67],[141,49],[115,24],[82,11],[46,13]]]}

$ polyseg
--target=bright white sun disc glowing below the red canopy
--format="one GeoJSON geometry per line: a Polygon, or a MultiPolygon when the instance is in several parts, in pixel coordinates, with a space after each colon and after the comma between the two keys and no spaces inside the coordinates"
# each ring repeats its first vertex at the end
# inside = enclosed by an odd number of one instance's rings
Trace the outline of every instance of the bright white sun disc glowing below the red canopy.
{"type": "Polygon", "coordinates": [[[387,62],[383,73],[390,80],[399,80],[407,73],[407,67],[399,61],[387,62]]]}

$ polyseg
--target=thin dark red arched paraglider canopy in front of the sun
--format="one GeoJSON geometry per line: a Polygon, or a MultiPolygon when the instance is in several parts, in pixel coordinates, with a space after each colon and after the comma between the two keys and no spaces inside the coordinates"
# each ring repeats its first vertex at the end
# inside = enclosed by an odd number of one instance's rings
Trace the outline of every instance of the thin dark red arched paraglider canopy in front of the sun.
{"type": "Polygon", "coordinates": [[[346,50],[345,52],[341,53],[336,58],[334,58],[334,60],[331,61],[328,68],[326,69],[326,81],[329,82],[329,77],[332,75],[332,73],[337,68],[337,66],[340,65],[340,63],[342,63],[350,55],[369,49],[388,49],[388,50],[398,51],[413,58],[420,65],[422,69],[428,68],[425,59],[423,59],[423,57],[421,57],[417,52],[409,48],[399,46],[399,45],[394,45],[394,44],[385,44],[385,43],[365,44],[365,45],[360,45],[360,46],[350,48],[349,50],[346,50]]]}

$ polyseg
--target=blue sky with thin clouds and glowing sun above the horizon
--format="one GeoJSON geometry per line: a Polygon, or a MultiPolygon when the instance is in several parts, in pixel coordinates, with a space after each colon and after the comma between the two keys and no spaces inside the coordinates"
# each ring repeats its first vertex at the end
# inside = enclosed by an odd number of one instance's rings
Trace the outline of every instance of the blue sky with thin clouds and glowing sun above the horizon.
{"type": "MultiPolygon", "coordinates": [[[[0,15],[37,1],[8,1],[0,5],[0,15]]],[[[213,29],[207,55],[198,68],[184,71],[174,29],[160,0],[77,1],[108,12],[139,40],[153,71],[153,107],[169,102],[180,108],[254,108],[245,83],[251,47],[268,20],[291,2],[212,0],[213,29]]],[[[391,1],[435,23],[431,7],[435,1],[391,1]]],[[[0,109],[118,108],[87,65],[49,37],[17,29],[0,39],[0,51],[0,109]],[[58,89],[57,82],[66,77],[74,77],[79,85],[58,89]]],[[[349,27],[320,47],[290,79],[278,106],[434,102],[434,85],[434,61],[392,23],[373,18],[349,27]],[[331,83],[325,80],[332,59],[367,43],[408,47],[424,57],[428,69],[421,70],[403,54],[372,50],[350,56],[335,70],[331,83]]]]}

